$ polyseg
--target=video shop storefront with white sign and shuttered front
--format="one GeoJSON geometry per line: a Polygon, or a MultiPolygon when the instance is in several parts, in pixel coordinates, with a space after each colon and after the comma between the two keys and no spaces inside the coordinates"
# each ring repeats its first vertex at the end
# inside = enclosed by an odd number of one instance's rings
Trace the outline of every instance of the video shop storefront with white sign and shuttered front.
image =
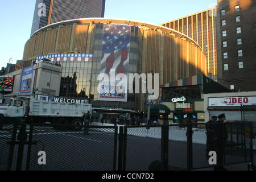
{"type": "Polygon", "coordinates": [[[256,91],[205,94],[205,118],[225,113],[236,121],[256,122],[256,91]]]}

